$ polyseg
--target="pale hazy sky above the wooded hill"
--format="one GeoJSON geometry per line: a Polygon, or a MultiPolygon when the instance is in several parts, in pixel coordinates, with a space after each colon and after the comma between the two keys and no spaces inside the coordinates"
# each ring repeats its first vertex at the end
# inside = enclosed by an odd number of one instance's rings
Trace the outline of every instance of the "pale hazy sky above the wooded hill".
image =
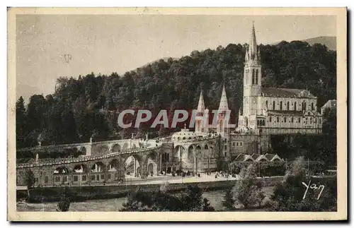
{"type": "Polygon", "coordinates": [[[193,50],[336,36],[335,16],[18,15],[16,97],[55,90],[60,77],[125,73],[193,50]]]}

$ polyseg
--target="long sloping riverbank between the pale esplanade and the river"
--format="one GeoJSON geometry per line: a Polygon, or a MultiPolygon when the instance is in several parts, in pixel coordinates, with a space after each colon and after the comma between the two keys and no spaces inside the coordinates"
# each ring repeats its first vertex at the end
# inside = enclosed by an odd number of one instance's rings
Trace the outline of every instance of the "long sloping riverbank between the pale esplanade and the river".
{"type": "MultiPolygon", "coordinates": [[[[263,183],[263,186],[275,186],[279,181],[282,181],[282,176],[265,177],[263,179],[258,178],[263,183]]],[[[225,188],[230,188],[236,184],[237,178],[222,178],[222,179],[200,179],[198,177],[190,177],[189,179],[161,179],[140,182],[139,184],[131,185],[106,185],[106,186],[70,186],[67,188],[72,201],[84,201],[94,199],[105,198],[122,198],[127,196],[130,192],[139,188],[141,191],[159,191],[161,184],[168,183],[166,191],[178,192],[184,191],[190,184],[196,184],[203,191],[214,191],[225,188]]],[[[45,188],[33,188],[30,190],[30,202],[43,203],[53,202],[60,199],[63,187],[45,187],[45,188]]],[[[17,200],[27,197],[27,191],[25,189],[17,190],[17,200]]]]}

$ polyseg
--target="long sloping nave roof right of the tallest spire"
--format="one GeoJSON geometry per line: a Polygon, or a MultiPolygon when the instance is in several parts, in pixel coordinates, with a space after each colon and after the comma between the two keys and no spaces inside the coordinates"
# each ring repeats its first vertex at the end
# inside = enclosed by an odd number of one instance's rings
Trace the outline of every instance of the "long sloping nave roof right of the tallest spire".
{"type": "Polygon", "coordinates": [[[262,88],[264,97],[288,97],[288,98],[316,98],[308,90],[287,88],[262,88]]]}

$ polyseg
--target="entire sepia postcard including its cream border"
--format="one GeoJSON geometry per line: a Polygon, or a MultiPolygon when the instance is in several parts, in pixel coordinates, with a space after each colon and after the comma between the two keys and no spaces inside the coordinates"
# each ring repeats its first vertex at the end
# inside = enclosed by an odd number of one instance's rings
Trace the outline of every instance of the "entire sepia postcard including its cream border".
{"type": "Polygon", "coordinates": [[[347,219],[346,8],[110,10],[8,9],[8,220],[347,219]]]}

